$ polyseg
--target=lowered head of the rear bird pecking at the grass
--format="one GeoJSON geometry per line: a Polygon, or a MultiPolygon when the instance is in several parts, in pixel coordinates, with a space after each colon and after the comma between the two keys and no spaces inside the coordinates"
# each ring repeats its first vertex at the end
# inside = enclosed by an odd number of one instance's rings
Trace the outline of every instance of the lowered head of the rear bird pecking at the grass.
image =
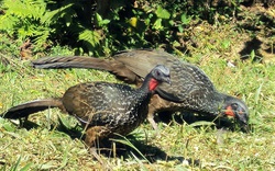
{"type": "Polygon", "coordinates": [[[233,116],[239,122],[242,130],[249,132],[249,109],[243,101],[228,96],[223,110],[223,114],[233,116]]]}

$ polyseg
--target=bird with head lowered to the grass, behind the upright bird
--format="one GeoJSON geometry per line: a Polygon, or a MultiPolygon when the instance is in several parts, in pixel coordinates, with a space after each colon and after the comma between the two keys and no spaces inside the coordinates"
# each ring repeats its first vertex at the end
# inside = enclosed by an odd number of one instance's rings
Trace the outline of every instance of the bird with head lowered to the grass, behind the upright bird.
{"type": "Polygon", "coordinates": [[[148,106],[147,121],[154,129],[156,113],[170,115],[189,111],[200,115],[232,116],[248,132],[249,109],[232,95],[219,92],[208,76],[197,66],[179,60],[177,56],[157,49],[129,49],[117,53],[111,58],[85,56],[42,57],[31,62],[38,69],[87,68],[109,71],[119,80],[138,87],[155,65],[165,65],[170,70],[172,86],[156,88],[148,106]]]}

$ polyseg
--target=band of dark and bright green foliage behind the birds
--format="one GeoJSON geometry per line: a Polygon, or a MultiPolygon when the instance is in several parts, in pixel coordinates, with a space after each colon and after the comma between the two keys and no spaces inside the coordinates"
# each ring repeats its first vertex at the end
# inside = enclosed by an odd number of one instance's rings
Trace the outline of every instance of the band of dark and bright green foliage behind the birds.
{"type": "Polygon", "coordinates": [[[219,8],[205,1],[106,0],[3,0],[0,31],[16,39],[31,39],[34,52],[56,44],[69,45],[75,54],[109,55],[128,48],[164,47],[185,50],[190,24],[216,13],[233,16],[239,0],[219,8]],[[107,4],[106,4],[107,3],[107,4]],[[102,10],[103,9],[103,10],[102,10]]]}

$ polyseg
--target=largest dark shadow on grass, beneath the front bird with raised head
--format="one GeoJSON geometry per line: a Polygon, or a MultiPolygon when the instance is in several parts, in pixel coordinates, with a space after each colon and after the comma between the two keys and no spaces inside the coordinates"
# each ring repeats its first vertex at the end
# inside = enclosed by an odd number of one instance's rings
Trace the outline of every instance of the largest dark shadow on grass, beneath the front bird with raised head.
{"type": "Polygon", "coordinates": [[[185,159],[182,156],[168,156],[160,147],[147,145],[143,140],[136,139],[134,135],[127,137],[116,136],[110,139],[102,139],[97,148],[98,153],[109,158],[135,159],[142,162],[156,163],[157,161],[173,161],[174,163],[188,162],[189,166],[198,167],[198,159],[185,159]],[[111,140],[110,140],[111,139],[111,140]]]}

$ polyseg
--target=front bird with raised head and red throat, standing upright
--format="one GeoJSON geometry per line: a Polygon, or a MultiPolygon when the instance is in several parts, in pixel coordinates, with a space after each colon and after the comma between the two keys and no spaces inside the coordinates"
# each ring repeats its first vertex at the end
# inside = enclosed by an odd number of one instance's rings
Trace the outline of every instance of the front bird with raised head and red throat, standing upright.
{"type": "Polygon", "coordinates": [[[98,140],[116,134],[125,136],[139,127],[146,119],[154,90],[162,83],[170,84],[169,69],[157,65],[138,89],[121,83],[85,82],[70,87],[62,98],[30,101],[1,115],[3,118],[16,119],[58,107],[81,123],[86,130],[87,147],[96,147],[98,140]]]}

